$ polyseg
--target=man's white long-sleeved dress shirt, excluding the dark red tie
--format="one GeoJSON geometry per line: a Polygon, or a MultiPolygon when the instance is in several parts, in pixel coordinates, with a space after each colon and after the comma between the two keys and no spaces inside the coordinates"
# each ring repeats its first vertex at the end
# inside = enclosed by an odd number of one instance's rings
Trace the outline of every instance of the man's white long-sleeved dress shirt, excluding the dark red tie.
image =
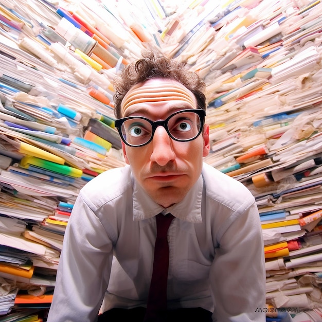
{"type": "Polygon", "coordinates": [[[168,308],[202,307],[213,321],[265,321],[262,231],[253,195],[204,164],[185,199],[150,199],[130,166],[81,190],[64,237],[48,322],[95,321],[98,311],[146,306],[154,216],[171,212],[168,308]],[[113,264],[112,264],[113,261],[113,264]]]}

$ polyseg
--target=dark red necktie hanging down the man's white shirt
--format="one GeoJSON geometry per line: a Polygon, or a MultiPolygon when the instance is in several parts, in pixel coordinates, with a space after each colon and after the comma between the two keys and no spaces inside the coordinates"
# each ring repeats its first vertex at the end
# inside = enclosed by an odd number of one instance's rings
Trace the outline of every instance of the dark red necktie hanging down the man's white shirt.
{"type": "Polygon", "coordinates": [[[153,272],[148,296],[145,322],[165,321],[167,311],[167,283],[169,270],[169,245],[167,233],[174,217],[171,213],[156,216],[153,272]]]}

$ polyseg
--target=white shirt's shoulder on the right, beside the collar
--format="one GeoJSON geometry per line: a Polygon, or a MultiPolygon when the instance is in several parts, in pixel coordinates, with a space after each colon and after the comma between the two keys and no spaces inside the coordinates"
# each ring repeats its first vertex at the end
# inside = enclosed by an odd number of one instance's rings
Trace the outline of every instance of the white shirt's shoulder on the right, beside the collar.
{"type": "Polygon", "coordinates": [[[219,170],[203,164],[202,176],[206,197],[210,201],[220,203],[232,211],[247,208],[255,202],[252,193],[239,181],[219,170]]]}

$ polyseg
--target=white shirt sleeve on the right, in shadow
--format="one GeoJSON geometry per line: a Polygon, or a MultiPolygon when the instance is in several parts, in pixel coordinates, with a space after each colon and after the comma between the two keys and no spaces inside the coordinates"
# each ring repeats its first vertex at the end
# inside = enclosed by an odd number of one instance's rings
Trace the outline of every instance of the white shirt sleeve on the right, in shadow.
{"type": "Polygon", "coordinates": [[[265,260],[255,202],[226,219],[217,239],[210,270],[213,317],[220,322],[264,322],[265,260]]]}

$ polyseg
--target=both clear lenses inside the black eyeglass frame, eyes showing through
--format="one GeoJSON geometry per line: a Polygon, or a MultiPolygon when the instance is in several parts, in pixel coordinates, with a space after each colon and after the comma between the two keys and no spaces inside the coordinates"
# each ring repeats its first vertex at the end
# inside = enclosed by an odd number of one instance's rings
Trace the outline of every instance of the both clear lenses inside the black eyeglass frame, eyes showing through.
{"type": "MultiPolygon", "coordinates": [[[[172,115],[166,121],[166,130],[178,141],[188,141],[200,133],[200,117],[193,112],[182,112],[172,115]]],[[[145,118],[131,118],[123,122],[122,135],[128,144],[139,146],[146,144],[153,135],[153,126],[145,118]]]]}

